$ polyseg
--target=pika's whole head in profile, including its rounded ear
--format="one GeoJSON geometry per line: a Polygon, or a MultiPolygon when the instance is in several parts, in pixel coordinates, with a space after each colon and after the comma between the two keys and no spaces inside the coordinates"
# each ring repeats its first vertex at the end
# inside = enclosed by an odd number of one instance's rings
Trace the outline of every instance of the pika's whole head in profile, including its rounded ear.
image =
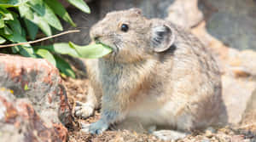
{"type": "Polygon", "coordinates": [[[91,28],[90,37],[113,48],[104,58],[125,63],[147,60],[174,40],[171,28],[163,21],[146,19],[140,9],[108,13],[91,28]]]}

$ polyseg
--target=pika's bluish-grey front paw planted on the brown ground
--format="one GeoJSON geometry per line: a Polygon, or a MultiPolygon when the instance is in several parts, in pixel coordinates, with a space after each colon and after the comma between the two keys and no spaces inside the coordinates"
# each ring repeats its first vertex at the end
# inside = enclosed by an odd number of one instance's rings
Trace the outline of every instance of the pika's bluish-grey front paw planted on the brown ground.
{"type": "Polygon", "coordinates": [[[89,132],[92,134],[100,134],[108,129],[108,123],[102,120],[91,123],[89,127],[89,132]]]}

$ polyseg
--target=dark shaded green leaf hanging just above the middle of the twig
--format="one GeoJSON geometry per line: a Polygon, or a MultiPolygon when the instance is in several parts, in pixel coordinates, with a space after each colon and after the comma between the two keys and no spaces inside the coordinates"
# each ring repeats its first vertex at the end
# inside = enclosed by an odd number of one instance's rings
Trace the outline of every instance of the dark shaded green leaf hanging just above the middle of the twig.
{"type": "Polygon", "coordinates": [[[34,40],[38,34],[38,26],[34,24],[31,20],[24,19],[26,25],[26,30],[28,31],[29,37],[34,40]]]}

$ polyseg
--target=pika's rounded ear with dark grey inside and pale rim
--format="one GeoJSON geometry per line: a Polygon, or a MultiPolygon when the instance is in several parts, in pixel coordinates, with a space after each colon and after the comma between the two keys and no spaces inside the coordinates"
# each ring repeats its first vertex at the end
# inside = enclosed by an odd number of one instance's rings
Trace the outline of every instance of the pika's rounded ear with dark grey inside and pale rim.
{"type": "Polygon", "coordinates": [[[154,52],[164,52],[174,43],[175,35],[170,26],[162,24],[160,26],[152,27],[150,38],[154,52]]]}

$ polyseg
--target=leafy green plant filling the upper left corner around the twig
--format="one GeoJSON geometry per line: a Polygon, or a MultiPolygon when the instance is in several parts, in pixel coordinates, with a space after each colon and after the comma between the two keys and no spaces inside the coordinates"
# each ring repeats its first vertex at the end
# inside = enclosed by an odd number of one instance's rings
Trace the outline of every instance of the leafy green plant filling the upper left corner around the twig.
{"type": "MultiPolygon", "coordinates": [[[[90,13],[84,0],[67,0],[68,3],[90,13]]],[[[76,26],[67,10],[58,0],[0,0],[0,44],[24,43],[34,40],[38,31],[51,36],[53,31],[62,31],[59,18],[76,26]]],[[[66,76],[75,77],[67,61],[59,54],[80,57],[79,50],[68,43],[55,43],[48,46],[32,47],[30,44],[11,47],[10,54],[26,57],[44,58],[66,76]]]]}

